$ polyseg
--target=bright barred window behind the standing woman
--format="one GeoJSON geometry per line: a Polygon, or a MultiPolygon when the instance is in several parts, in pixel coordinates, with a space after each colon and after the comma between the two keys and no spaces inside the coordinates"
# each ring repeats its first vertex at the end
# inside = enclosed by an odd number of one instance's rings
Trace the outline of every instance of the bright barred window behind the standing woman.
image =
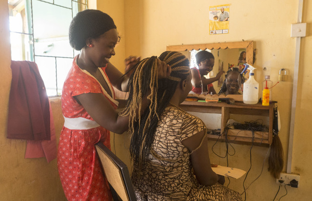
{"type": "Polygon", "coordinates": [[[60,95],[78,54],[68,28],[87,0],[8,0],[12,60],[35,61],[49,96],[60,95]]]}

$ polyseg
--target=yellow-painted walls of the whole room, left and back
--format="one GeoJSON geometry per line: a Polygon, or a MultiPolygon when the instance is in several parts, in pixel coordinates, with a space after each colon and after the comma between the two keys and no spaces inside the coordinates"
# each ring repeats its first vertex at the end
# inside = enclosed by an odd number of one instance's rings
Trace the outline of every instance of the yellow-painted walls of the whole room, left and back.
{"type": "MultiPolygon", "coordinates": [[[[261,82],[264,74],[270,72],[271,80],[277,81],[280,68],[288,69],[287,82],[279,83],[273,89],[273,99],[278,101],[282,128],[281,138],[285,163],[287,163],[290,111],[292,101],[292,74],[295,54],[295,38],[290,37],[291,24],[296,23],[297,1],[240,0],[230,6],[230,33],[226,35],[208,34],[208,8],[210,5],[230,3],[225,0],[101,0],[99,10],[108,13],[117,24],[122,39],[116,49],[112,63],[124,71],[123,59],[128,55],[147,57],[160,55],[167,45],[199,44],[224,41],[254,40],[257,49],[254,66],[257,68],[256,80],[261,82]],[[267,72],[263,72],[266,67],[267,72]]],[[[300,174],[300,187],[288,187],[285,200],[309,200],[312,166],[312,136],[308,133],[311,109],[312,74],[311,21],[309,15],[312,2],[304,0],[303,22],[307,22],[307,37],[302,38],[297,91],[296,119],[293,140],[292,172],[300,174]]],[[[65,200],[59,182],[56,160],[47,164],[45,159],[24,159],[25,141],[6,139],[7,107],[11,84],[10,44],[8,31],[7,1],[0,0],[0,60],[1,60],[1,99],[0,99],[0,200],[65,200]]],[[[57,138],[63,124],[59,100],[52,101],[57,138]]],[[[114,134],[112,134],[114,149],[114,134]]],[[[115,136],[117,155],[130,164],[129,141],[126,134],[115,136]]],[[[212,147],[213,142],[209,144],[212,147]]],[[[250,146],[233,145],[235,155],[229,157],[229,165],[244,170],[250,167],[250,146]]],[[[245,187],[260,174],[267,147],[254,146],[252,149],[252,170],[245,181],[245,187]]],[[[224,154],[224,144],[217,144],[214,151],[224,154]]],[[[226,165],[225,159],[215,156],[210,149],[213,163],[226,165]]],[[[278,185],[267,172],[267,161],[261,177],[247,190],[247,200],[273,200],[278,185]]],[[[130,168],[131,169],[131,168],[130,168]]],[[[284,170],[286,170],[286,165],[284,170]]],[[[243,178],[231,180],[230,188],[243,192],[243,178]]],[[[281,188],[277,198],[284,195],[281,188]]]]}

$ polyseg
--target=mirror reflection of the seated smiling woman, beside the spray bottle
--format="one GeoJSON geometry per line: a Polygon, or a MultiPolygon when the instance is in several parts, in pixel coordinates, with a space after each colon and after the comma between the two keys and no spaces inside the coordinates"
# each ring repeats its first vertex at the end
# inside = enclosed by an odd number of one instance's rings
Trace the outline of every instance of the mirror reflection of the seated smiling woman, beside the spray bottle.
{"type": "Polygon", "coordinates": [[[239,69],[233,67],[225,75],[225,80],[218,94],[242,94],[240,89],[244,82],[245,78],[240,74],[239,69]]]}

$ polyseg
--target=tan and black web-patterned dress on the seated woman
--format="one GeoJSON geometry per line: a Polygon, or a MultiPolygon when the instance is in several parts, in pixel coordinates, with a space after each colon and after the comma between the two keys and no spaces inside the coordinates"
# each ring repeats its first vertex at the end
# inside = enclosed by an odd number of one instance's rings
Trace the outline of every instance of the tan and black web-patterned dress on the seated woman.
{"type": "Polygon", "coordinates": [[[181,141],[203,129],[199,118],[175,107],[165,109],[144,169],[134,164],[138,201],[241,201],[238,192],[219,183],[200,185],[192,173],[190,151],[181,141]]]}

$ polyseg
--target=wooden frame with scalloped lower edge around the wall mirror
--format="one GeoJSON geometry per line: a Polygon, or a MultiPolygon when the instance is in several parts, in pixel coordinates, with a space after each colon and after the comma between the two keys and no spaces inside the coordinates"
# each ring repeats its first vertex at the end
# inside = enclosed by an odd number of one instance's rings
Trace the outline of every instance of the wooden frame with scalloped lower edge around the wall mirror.
{"type": "Polygon", "coordinates": [[[167,51],[190,51],[190,50],[212,50],[212,49],[235,49],[246,48],[246,62],[254,64],[254,41],[240,41],[240,42],[219,42],[219,43],[206,43],[206,44],[193,44],[193,45],[170,45],[167,46],[167,51]]]}

